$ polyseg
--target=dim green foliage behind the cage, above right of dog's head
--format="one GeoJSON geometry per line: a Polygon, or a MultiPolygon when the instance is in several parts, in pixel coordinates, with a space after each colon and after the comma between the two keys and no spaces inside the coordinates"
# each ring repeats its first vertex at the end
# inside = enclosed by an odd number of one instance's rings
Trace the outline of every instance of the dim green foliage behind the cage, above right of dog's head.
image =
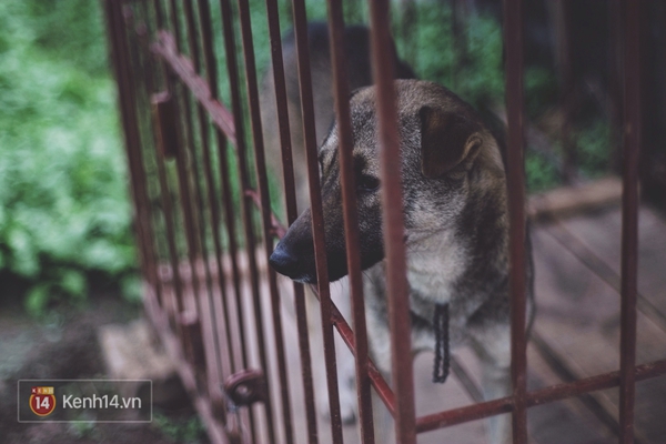
{"type": "MultiPolygon", "coordinates": [[[[502,28],[494,17],[472,13],[461,23],[457,36],[447,4],[413,4],[415,23],[408,34],[401,31],[395,13],[394,36],[400,54],[422,79],[446,85],[476,109],[504,103],[504,61],[502,28]]],[[[525,109],[537,118],[556,103],[557,82],[553,72],[526,67],[525,109]]],[[[542,191],[561,181],[555,165],[527,150],[525,172],[529,191],[542,191]]]]}

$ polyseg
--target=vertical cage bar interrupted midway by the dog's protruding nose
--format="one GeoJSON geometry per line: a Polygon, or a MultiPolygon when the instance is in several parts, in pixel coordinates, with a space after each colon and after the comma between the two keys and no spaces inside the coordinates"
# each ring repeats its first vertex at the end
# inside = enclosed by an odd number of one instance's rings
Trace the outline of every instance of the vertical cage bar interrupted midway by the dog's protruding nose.
{"type": "MultiPolygon", "coordinates": [[[[280,37],[280,18],[278,2],[266,0],[269,19],[269,34],[271,39],[271,58],[273,62],[273,83],[275,85],[275,109],[278,110],[278,125],[280,130],[280,145],[282,150],[282,174],[284,178],[284,199],[286,218],[291,225],[299,216],[296,210],[296,194],[294,184],[294,170],[292,162],[292,141],[284,80],[284,64],[282,58],[282,42],[280,37]]],[[[304,6],[301,6],[304,12],[304,6]]],[[[299,351],[301,354],[301,375],[303,380],[303,395],[305,401],[305,416],[307,421],[307,441],[317,442],[316,412],[314,410],[314,387],[312,383],[312,361],[310,355],[310,336],[307,330],[307,311],[305,307],[305,292],[302,284],[293,283],[294,305],[296,309],[296,327],[299,333],[299,351]]]]}

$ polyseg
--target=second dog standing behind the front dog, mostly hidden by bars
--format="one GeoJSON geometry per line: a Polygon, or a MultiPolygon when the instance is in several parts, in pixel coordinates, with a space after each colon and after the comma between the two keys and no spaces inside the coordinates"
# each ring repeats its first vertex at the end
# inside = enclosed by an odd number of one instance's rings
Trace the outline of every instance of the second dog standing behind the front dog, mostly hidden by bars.
{"type": "MultiPolygon", "coordinates": [[[[307,24],[307,47],[310,52],[310,70],[313,85],[314,123],[317,144],[329,133],[334,119],[333,68],[330,53],[329,28],[325,22],[307,24]]],[[[303,211],[310,206],[307,184],[306,153],[303,135],[301,94],[299,89],[297,53],[293,31],[282,39],[284,75],[292,141],[296,206],[303,211]]],[[[395,53],[395,49],[393,49],[395,53]]],[[[347,61],[347,80],[350,90],[372,84],[370,57],[370,30],[363,26],[350,26],[344,29],[344,53],[347,61]]],[[[395,77],[412,79],[414,72],[400,59],[395,58],[395,77]]],[[[282,155],[280,147],[278,109],[275,104],[275,84],[272,67],[266,69],[262,81],[261,117],[268,165],[273,178],[282,178],[282,155]]],[[[282,184],[282,181],[280,181],[282,184]]],[[[283,192],[284,194],[284,192],[283,192]]],[[[316,297],[306,292],[309,331],[311,336],[313,362],[324,362],[321,319],[316,297]]],[[[346,280],[332,287],[332,295],[341,313],[349,320],[351,303],[346,280]]],[[[351,423],[356,413],[356,392],[354,389],[354,361],[340,337],[335,340],[337,361],[337,385],[340,387],[341,416],[351,423]]],[[[317,389],[319,411],[324,417],[330,416],[326,374],[323,365],[314,365],[315,387],[317,389]]]]}

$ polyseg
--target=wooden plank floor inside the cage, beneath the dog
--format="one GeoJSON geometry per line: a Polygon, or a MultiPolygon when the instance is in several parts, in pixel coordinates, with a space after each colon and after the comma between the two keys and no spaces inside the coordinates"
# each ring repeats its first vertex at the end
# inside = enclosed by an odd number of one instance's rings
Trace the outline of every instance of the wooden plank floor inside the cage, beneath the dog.
{"type": "MultiPolygon", "coordinates": [[[[616,205],[533,225],[537,315],[528,344],[529,390],[619,369],[620,226],[616,205]]],[[[637,363],[666,359],[666,222],[648,208],[639,214],[638,287],[637,363]]],[[[296,359],[295,347],[290,354],[296,359]]],[[[456,359],[477,383],[472,352],[458,351],[456,359]]],[[[420,355],[414,372],[418,415],[474,402],[457,377],[433,384],[431,371],[432,355],[420,355]]],[[[297,390],[297,375],[291,385],[297,390]]],[[[617,403],[614,389],[531,408],[531,442],[615,443],[617,403]]],[[[296,430],[304,430],[302,412],[296,408],[294,415],[296,430]]],[[[330,425],[320,421],[319,427],[321,442],[327,442],[330,425]]],[[[345,426],[345,443],[359,442],[356,433],[355,425],[345,426]]],[[[636,437],[666,443],[664,376],[637,385],[636,437]]],[[[428,432],[418,442],[484,443],[484,422],[428,432]]]]}

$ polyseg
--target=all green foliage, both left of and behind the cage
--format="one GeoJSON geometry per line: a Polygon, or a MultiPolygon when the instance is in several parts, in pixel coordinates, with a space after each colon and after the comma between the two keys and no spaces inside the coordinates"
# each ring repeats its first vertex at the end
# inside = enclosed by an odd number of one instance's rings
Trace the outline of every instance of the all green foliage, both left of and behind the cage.
{"type": "MultiPolygon", "coordinates": [[[[140,296],[127,167],[100,4],[98,0],[0,1],[0,275],[30,283],[24,305],[34,315],[53,302],[81,303],[91,273],[119,282],[128,301],[140,296]]],[[[291,27],[291,7],[286,0],[279,6],[284,33],[291,27]]],[[[306,6],[309,20],[325,20],[325,2],[307,0],[306,6]]],[[[412,7],[415,24],[407,34],[400,23],[404,16],[394,11],[394,36],[398,53],[417,75],[450,87],[476,107],[503,103],[497,20],[473,13],[456,39],[447,4],[412,7]]],[[[220,17],[219,2],[212,1],[211,9],[212,17],[220,17]]],[[[250,11],[261,78],[270,61],[265,3],[251,0],[250,11]]],[[[345,14],[350,23],[367,23],[367,10],[357,2],[347,1],[345,14]]],[[[238,20],[234,26],[240,53],[238,20]]],[[[213,32],[222,34],[219,20],[213,32]]],[[[222,39],[215,39],[214,46],[220,91],[229,105],[222,39]]],[[[531,118],[554,103],[553,73],[528,68],[525,100],[531,118]]],[[[245,100],[243,108],[246,113],[245,100]]],[[[244,122],[250,144],[249,120],[244,122]]],[[[606,171],[613,142],[608,125],[592,124],[573,135],[582,172],[594,176],[606,171]]],[[[526,154],[526,173],[531,190],[558,183],[555,167],[535,153],[526,154]]],[[[236,178],[231,181],[235,186],[236,178]]],[[[278,193],[272,198],[274,208],[280,208],[278,193]]]]}

